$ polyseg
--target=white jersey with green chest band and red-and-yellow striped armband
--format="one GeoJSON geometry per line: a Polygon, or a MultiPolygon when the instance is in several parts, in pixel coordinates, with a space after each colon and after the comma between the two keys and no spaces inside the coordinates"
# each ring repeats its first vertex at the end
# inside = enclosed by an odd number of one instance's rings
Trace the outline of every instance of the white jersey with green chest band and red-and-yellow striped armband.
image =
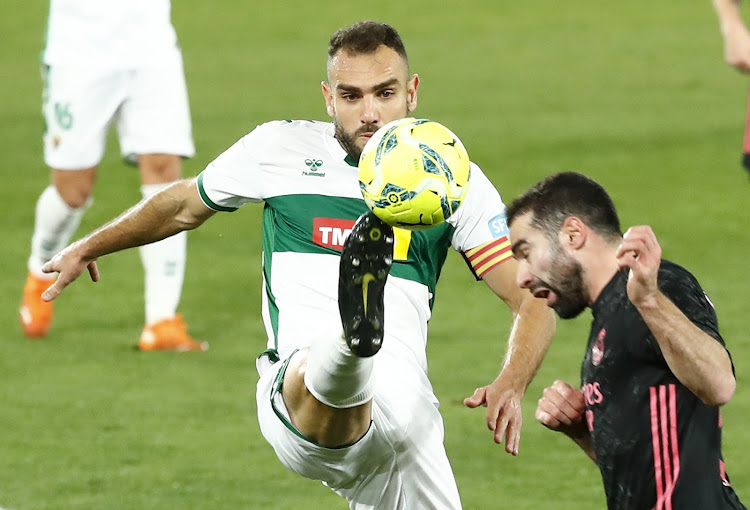
{"type": "MultiPolygon", "coordinates": [[[[265,203],[268,348],[283,359],[318,337],[341,335],[339,255],[367,207],[357,168],[334,138],[334,126],[263,124],[210,163],[197,182],[204,203],[216,211],[265,203]]],[[[500,195],[474,164],[467,197],[446,223],[424,231],[395,229],[383,349],[412,357],[426,371],[427,322],[448,248],[461,252],[481,277],[510,257],[507,234],[500,195]]]]}

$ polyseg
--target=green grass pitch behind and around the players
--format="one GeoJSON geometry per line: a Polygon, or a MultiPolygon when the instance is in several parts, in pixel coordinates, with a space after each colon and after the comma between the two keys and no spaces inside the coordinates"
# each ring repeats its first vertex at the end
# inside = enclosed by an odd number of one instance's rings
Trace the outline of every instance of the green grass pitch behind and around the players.
{"type": "MultiPolygon", "coordinates": [[[[287,472],[258,429],[260,207],[190,234],[181,310],[208,353],[133,350],[143,314],[134,250],[102,259],[100,283],[68,290],[46,340],[21,336],[34,202],[48,182],[37,60],[47,9],[6,0],[0,16],[0,507],[346,508],[287,472]]],[[[175,2],[198,149],[185,174],[265,120],[325,119],[328,37],[364,18],[400,30],[422,79],[416,114],[454,130],[506,201],[549,173],[587,173],[611,191],[625,226],[650,223],[664,255],[699,278],[737,367],[724,453],[750,500],[750,182],[739,166],[747,79],[723,63],[710,2],[175,2]]],[[[111,139],[77,235],[139,197],[137,172],[111,139]]],[[[512,458],[492,443],[483,411],[461,405],[494,378],[510,314],[460,257],[443,274],[430,375],[465,508],[603,508],[595,466],[533,417],[545,385],[577,381],[589,320],[560,323],[512,458]]]]}

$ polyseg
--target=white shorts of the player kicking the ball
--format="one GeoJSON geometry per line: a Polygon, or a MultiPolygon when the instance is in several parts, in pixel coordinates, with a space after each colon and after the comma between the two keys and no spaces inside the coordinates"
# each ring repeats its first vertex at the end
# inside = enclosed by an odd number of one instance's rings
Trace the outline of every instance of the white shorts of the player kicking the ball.
{"type": "Polygon", "coordinates": [[[287,468],[323,481],[346,498],[352,510],[460,509],[432,390],[394,378],[414,374],[415,367],[384,355],[381,351],[376,356],[372,423],[357,443],[324,448],[294,428],[281,396],[291,357],[263,371],[258,381],[261,432],[287,468]]]}

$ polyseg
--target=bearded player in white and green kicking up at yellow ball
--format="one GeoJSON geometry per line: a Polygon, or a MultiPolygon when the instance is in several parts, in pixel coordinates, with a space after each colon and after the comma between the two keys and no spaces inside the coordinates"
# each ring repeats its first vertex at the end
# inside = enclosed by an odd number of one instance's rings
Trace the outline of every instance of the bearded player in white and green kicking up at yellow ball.
{"type": "Polygon", "coordinates": [[[514,315],[500,374],[465,400],[487,406],[495,441],[514,455],[521,399],[549,346],[554,317],[516,285],[505,206],[476,165],[464,203],[443,225],[391,230],[367,212],[355,167],[362,148],[378,127],[417,106],[419,78],[410,75],[398,33],[371,21],[339,30],[327,71],[322,92],[333,123],[259,126],[198,178],[56,255],[44,270],[60,275],[43,297],[54,299],[87,268],[96,281],[102,255],[263,202],[268,345],[256,363],[261,432],[285,466],[322,480],[353,509],[458,509],[425,355],[448,249],[462,252],[514,315]]]}

